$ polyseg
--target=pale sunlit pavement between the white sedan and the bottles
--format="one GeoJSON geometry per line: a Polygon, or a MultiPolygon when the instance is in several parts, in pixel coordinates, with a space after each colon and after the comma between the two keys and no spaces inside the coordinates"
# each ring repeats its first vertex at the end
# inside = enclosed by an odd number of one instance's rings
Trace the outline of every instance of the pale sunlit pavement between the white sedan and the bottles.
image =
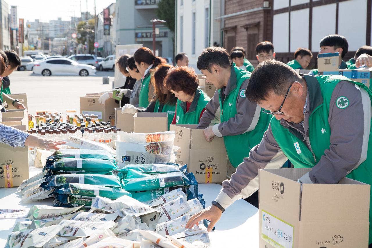
{"type": "MultiPolygon", "coordinates": [[[[13,94],[27,93],[29,113],[36,110],[55,109],[65,114],[66,109],[80,111],[80,96],[112,88],[113,71],[97,71],[95,76],[43,77],[32,71],[14,71],[10,76],[13,94]],[[102,77],[110,77],[110,84],[103,85],[102,77]]],[[[63,116],[65,117],[65,115],[63,116]]]]}

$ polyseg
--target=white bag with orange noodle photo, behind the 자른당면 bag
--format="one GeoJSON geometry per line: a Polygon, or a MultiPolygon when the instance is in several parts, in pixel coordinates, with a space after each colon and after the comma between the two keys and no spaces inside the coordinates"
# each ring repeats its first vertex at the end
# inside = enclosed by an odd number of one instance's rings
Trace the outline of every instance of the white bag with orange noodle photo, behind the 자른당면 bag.
{"type": "Polygon", "coordinates": [[[174,141],[176,133],[174,131],[158,132],[158,133],[126,133],[117,131],[118,140],[128,143],[151,143],[174,141]]]}

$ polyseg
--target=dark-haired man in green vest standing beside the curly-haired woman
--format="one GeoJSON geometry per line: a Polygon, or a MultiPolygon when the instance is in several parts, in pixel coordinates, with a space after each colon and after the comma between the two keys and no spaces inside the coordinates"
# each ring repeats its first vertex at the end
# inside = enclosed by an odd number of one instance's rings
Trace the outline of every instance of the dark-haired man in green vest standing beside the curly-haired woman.
{"type": "MultiPolygon", "coordinates": [[[[205,106],[198,128],[204,129],[208,142],[214,136],[224,137],[228,158],[236,168],[249,156],[250,149],[261,142],[271,117],[255,102],[247,101],[246,88],[251,73],[231,63],[224,48],[206,48],[199,56],[197,66],[206,82],[217,88],[205,106]],[[209,126],[218,108],[221,109],[221,123],[209,126]]],[[[258,201],[248,201],[258,204],[258,201]]]]}

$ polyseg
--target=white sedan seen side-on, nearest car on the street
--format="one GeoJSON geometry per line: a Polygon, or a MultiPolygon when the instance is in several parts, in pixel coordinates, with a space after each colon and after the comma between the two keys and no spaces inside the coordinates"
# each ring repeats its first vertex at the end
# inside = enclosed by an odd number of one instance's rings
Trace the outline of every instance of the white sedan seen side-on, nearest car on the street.
{"type": "Polygon", "coordinates": [[[50,58],[36,63],[32,71],[35,74],[42,74],[43,76],[74,74],[86,77],[96,74],[96,67],[87,64],[78,64],[68,58],[50,58]]]}

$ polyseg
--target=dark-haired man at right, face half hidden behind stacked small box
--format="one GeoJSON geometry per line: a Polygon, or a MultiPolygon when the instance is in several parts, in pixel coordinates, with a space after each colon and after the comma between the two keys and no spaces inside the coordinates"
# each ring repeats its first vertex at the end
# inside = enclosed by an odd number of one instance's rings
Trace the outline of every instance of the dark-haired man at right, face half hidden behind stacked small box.
{"type": "MultiPolygon", "coordinates": [[[[349,49],[349,43],[342,35],[327,35],[320,41],[319,53],[340,53],[339,69],[347,69],[347,64],[343,61],[343,57],[349,49]]],[[[318,75],[318,69],[313,69],[309,73],[311,76],[318,75]]]]}

